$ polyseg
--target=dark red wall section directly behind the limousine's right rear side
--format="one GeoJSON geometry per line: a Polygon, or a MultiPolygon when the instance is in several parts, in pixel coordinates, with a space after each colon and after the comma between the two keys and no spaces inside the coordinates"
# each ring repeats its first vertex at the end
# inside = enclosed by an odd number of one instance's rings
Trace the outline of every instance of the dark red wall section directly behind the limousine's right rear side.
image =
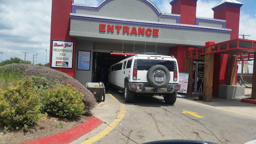
{"type": "Polygon", "coordinates": [[[185,51],[187,46],[177,45],[169,48],[169,56],[173,55],[178,62],[179,72],[185,72],[185,51]]]}

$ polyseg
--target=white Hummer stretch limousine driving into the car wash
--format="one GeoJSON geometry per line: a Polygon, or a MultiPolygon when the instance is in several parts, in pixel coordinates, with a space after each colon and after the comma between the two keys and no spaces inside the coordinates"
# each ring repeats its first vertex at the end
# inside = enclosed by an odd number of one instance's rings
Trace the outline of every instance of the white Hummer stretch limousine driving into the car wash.
{"type": "Polygon", "coordinates": [[[124,101],[130,103],[134,94],[164,97],[174,104],[180,89],[179,68],[174,56],[157,53],[135,54],[121,60],[109,69],[109,83],[124,91],[124,101]]]}

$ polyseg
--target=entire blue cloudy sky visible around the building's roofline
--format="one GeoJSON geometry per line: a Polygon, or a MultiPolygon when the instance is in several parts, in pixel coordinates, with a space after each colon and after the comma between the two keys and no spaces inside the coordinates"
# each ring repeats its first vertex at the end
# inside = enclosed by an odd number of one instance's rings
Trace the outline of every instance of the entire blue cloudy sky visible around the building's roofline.
{"type": "MultiPolygon", "coordinates": [[[[97,5],[101,0],[74,0],[75,4],[97,5]]],[[[151,0],[161,12],[171,13],[171,0],[151,0]]],[[[196,16],[213,18],[212,7],[221,0],[198,0],[196,16]]],[[[256,1],[244,3],[240,12],[239,34],[256,40],[256,1]]],[[[45,64],[49,62],[51,0],[0,0],[0,52],[2,60],[18,57],[45,64]],[[46,53],[47,50],[47,53],[46,53]]],[[[242,36],[239,36],[242,38],[242,36]]]]}

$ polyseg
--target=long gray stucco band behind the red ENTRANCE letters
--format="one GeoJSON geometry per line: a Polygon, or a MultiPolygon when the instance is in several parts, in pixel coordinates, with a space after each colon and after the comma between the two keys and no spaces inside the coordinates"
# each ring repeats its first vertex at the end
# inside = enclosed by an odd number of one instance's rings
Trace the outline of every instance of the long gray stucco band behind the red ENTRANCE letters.
{"type": "Polygon", "coordinates": [[[193,29],[182,29],[182,28],[165,28],[165,27],[152,27],[144,25],[134,24],[121,24],[113,22],[104,22],[96,20],[83,20],[71,18],[70,22],[70,36],[84,36],[84,37],[98,37],[107,39],[118,39],[118,40],[131,40],[131,41],[142,41],[142,42],[157,42],[157,43],[169,43],[169,44],[181,44],[181,45],[205,45],[205,42],[211,40],[216,43],[223,42],[230,39],[230,33],[205,31],[205,30],[193,30],[193,29]],[[123,34],[122,32],[117,33],[116,29],[112,32],[101,32],[99,31],[100,23],[110,25],[121,25],[132,27],[143,27],[143,28],[158,28],[159,36],[147,36],[147,35],[135,35],[135,34],[123,34]]]}

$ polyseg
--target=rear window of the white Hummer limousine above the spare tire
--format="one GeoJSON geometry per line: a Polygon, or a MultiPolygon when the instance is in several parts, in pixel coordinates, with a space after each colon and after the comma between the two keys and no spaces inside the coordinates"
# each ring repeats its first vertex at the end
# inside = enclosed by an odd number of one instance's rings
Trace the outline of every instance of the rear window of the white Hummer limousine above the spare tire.
{"type": "MultiPolygon", "coordinates": [[[[128,64],[128,63],[127,63],[128,64]]],[[[174,61],[171,60],[141,60],[138,59],[137,70],[148,70],[154,65],[163,65],[168,68],[169,71],[174,71],[174,61]]]]}

